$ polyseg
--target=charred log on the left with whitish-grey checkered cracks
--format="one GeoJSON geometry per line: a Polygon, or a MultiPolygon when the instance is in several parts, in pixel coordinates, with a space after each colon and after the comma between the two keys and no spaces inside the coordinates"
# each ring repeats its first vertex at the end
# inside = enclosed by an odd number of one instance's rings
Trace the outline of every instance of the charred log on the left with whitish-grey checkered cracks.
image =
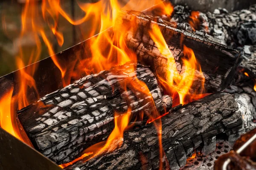
{"type": "Polygon", "coordinates": [[[131,107],[131,119],[139,118],[140,112],[150,114],[152,100],[147,91],[143,94],[146,88],[160,112],[163,106],[172,107],[172,98],[161,95],[157,80],[148,67],[126,63],[87,75],[45,95],[37,103],[20,110],[18,118],[34,147],[57,164],[63,164],[102,141],[102,136],[109,135],[114,112],[121,114],[131,107]],[[138,83],[136,78],[145,83],[141,91],[128,82],[125,91],[122,86],[125,81],[138,83]]]}

